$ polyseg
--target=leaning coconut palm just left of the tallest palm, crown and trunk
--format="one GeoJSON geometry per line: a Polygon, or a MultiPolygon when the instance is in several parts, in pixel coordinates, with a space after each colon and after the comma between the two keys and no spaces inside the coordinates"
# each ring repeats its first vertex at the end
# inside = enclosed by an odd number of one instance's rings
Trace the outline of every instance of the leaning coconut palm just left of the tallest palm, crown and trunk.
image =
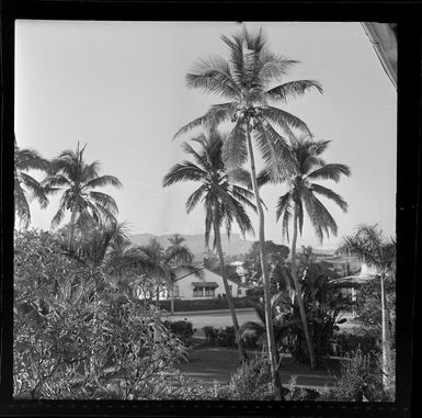
{"type": "MultiPolygon", "coordinates": [[[[251,221],[244,211],[243,205],[255,210],[250,199],[252,192],[240,184],[229,181],[226,166],[221,158],[224,135],[218,131],[212,129],[208,135],[199,135],[193,139],[198,144],[195,150],[190,144],[184,143],[183,148],[193,161],[182,161],[176,163],[163,179],[163,185],[169,187],[178,182],[194,181],[201,185],[186,202],[186,212],[190,213],[194,207],[203,202],[205,206],[205,244],[209,245],[209,235],[214,233],[214,248],[217,248],[219,256],[223,282],[225,285],[226,297],[229,305],[231,319],[235,327],[236,338],[239,346],[240,361],[244,361],[247,355],[243,343],[239,338],[239,324],[236,316],[235,303],[227,281],[225,259],[221,246],[220,227],[226,225],[227,235],[230,235],[233,222],[239,226],[241,233],[252,231],[251,221]]],[[[240,183],[250,184],[250,176],[244,171],[238,171],[236,177],[240,183]]]]}

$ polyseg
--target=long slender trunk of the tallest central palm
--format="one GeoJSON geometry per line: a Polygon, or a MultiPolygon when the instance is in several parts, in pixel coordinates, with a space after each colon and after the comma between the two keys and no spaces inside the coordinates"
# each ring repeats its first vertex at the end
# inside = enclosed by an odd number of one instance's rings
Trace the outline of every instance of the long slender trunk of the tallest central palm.
{"type": "Polygon", "coordinates": [[[277,364],[277,351],[275,347],[275,337],[274,337],[274,327],[273,327],[273,313],[271,308],[270,276],[269,276],[269,269],[266,264],[266,255],[265,255],[264,211],[262,210],[260,192],[258,190],[255,160],[253,157],[251,133],[249,131],[248,124],[246,124],[246,129],[247,129],[249,161],[251,165],[252,187],[253,187],[253,192],[255,194],[256,208],[258,208],[258,214],[260,218],[260,226],[259,226],[260,259],[261,259],[262,275],[264,279],[265,327],[266,327],[266,341],[269,347],[271,379],[273,382],[275,399],[280,400],[282,395],[281,395],[281,383],[278,379],[278,364],[277,364]]]}

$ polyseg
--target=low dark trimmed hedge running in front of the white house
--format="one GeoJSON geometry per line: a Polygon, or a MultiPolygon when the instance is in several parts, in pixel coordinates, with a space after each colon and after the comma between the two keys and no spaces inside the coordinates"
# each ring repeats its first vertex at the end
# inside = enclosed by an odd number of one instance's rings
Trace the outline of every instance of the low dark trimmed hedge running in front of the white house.
{"type": "MultiPolygon", "coordinates": [[[[252,307],[250,302],[259,302],[259,296],[233,297],[236,308],[252,307]]],[[[171,309],[170,301],[160,302],[161,309],[171,309]]],[[[229,305],[226,298],[198,300],[198,301],[174,301],[174,312],[192,312],[192,310],[213,310],[228,309],[229,305]]]]}

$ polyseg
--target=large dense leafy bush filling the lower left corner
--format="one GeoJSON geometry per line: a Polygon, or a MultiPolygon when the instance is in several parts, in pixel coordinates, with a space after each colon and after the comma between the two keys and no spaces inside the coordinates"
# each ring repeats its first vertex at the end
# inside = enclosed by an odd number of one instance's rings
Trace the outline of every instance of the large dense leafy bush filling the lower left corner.
{"type": "Polygon", "coordinates": [[[14,396],[133,399],[186,349],[145,306],[69,258],[47,233],[15,236],[14,396]]]}

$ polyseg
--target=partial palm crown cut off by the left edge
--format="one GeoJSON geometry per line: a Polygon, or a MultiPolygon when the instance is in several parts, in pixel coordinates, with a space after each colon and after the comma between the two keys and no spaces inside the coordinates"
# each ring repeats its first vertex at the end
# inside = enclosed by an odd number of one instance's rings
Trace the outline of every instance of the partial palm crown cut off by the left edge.
{"type": "Polygon", "coordinates": [[[19,148],[14,139],[14,212],[25,228],[31,224],[28,199],[36,199],[42,208],[48,205],[46,190],[28,171],[47,169],[47,160],[34,149],[19,148]]]}

